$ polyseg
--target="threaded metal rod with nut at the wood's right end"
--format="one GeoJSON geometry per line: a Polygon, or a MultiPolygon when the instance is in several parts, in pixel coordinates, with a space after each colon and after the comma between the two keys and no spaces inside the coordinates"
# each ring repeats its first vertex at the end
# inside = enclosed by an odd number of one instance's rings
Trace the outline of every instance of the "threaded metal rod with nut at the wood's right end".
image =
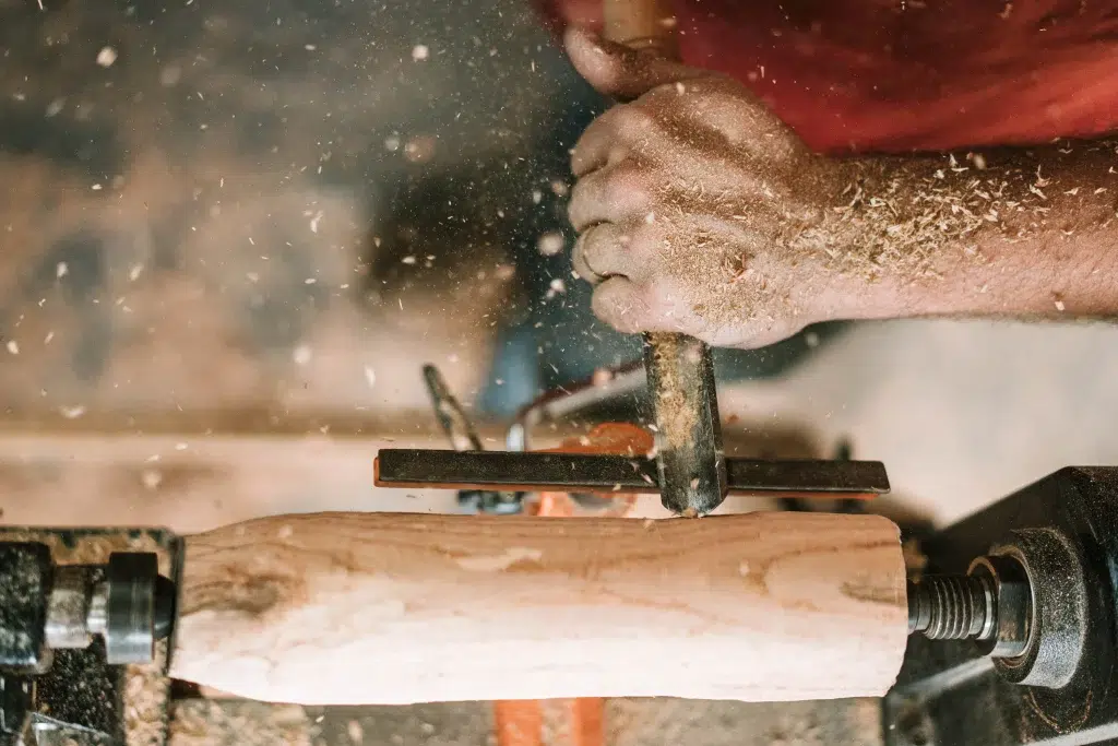
{"type": "Polygon", "coordinates": [[[909,634],[983,640],[997,629],[994,588],[982,577],[930,575],[908,582],[909,634]]]}

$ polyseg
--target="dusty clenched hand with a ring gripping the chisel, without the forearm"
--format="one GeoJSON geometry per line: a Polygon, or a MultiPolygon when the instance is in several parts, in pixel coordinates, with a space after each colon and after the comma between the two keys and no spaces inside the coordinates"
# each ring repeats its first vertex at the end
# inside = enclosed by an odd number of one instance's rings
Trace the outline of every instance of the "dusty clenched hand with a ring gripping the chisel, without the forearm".
{"type": "Polygon", "coordinates": [[[578,72],[619,104],[576,145],[575,268],[622,331],[759,347],[842,315],[824,206],[849,183],[735,81],[569,30],[578,72]]]}

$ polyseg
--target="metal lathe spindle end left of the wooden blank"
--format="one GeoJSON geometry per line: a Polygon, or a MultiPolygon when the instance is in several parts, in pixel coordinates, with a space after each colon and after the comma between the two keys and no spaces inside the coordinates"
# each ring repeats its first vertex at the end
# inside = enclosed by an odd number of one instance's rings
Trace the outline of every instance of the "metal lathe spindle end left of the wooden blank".
{"type": "Polygon", "coordinates": [[[0,744],[163,746],[182,542],[0,529],[0,744]]]}

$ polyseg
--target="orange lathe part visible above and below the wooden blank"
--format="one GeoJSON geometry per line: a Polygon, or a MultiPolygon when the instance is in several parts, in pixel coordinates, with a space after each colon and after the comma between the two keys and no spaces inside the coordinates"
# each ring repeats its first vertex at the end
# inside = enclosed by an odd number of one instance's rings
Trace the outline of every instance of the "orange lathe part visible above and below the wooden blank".
{"type": "MultiPolygon", "coordinates": [[[[603,453],[642,456],[655,447],[652,435],[627,423],[605,423],[580,437],[568,438],[547,453],[603,453]]],[[[596,492],[601,509],[587,509],[566,492],[541,492],[525,504],[534,516],[571,517],[580,514],[624,516],[633,507],[634,495],[596,492]]],[[[504,700],[493,703],[498,746],[604,746],[606,703],[600,697],[580,697],[541,702],[534,699],[504,700]]]]}

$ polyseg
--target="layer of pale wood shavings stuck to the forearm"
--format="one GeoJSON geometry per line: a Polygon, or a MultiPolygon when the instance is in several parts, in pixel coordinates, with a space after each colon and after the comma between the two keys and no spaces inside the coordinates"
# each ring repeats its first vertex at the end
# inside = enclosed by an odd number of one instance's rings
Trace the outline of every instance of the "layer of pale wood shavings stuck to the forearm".
{"type": "Polygon", "coordinates": [[[1112,215],[1114,200],[1095,189],[1106,178],[1101,166],[1114,162],[1099,158],[1107,151],[1112,145],[1103,141],[1002,150],[987,153],[983,169],[944,168],[942,157],[856,162],[824,223],[790,248],[822,254],[828,268],[868,283],[936,278],[959,261],[986,262],[987,252],[976,247],[1049,230],[1053,210],[1079,225],[1112,215]],[[1087,186],[1092,190],[1081,193],[1087,186]]]}

